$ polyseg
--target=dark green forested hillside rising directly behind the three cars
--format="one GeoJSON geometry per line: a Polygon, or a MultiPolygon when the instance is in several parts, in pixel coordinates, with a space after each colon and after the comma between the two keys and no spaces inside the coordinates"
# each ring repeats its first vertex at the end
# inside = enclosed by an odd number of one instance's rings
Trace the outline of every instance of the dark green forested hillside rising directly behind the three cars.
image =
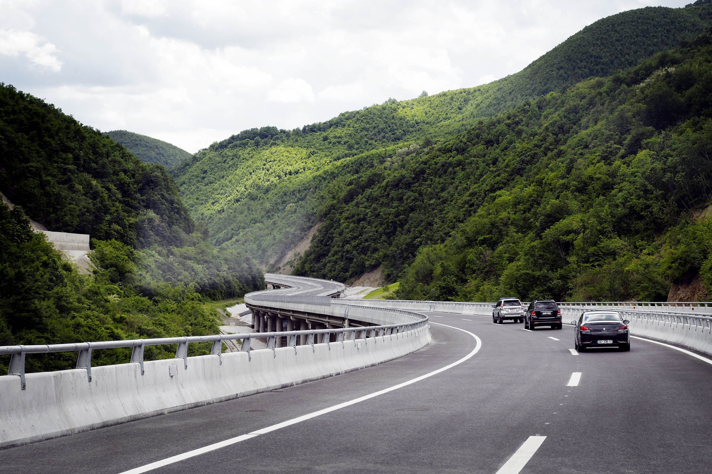
{"type": "Polygon", "coordinates": [[[296,271],[386,262],[399,297],[436,300],[712,289],[711,148],[712,31],[345,173],[296,271]]]}

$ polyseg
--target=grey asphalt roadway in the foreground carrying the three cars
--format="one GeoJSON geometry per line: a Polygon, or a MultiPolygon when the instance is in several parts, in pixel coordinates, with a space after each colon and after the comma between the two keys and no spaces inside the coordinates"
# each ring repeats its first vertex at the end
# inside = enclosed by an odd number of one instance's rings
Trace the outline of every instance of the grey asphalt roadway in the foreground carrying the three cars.
{"type": "Polygon", "coordinates": [[[710,472],[710,362],[637,338],[630,352],[575,354],[569,326],[428,315],[433,342],[412,355],[6,448],[0,472],[710,472]]]}

